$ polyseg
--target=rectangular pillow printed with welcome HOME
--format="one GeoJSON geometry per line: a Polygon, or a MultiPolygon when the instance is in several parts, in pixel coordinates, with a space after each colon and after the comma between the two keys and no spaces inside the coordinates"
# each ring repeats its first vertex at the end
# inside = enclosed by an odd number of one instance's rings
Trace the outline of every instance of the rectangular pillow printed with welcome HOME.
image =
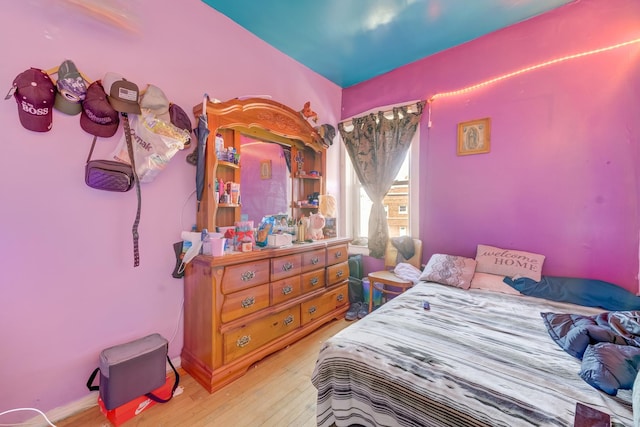
{"type": "Polygon", "coordinates": [[[542,276],[544,258],[544,255],[531,252],[478,245],[476,271],[509,277],[528,277],[537,282],[542,276]]]}

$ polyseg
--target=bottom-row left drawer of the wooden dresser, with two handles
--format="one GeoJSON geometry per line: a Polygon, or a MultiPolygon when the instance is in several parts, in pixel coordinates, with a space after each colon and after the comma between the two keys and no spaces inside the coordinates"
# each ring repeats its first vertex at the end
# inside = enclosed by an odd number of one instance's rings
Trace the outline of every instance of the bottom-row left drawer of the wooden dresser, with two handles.
{"type": "Polygon", "coordinates": [[[224,363],[229,363],[300,327],[300,306],[272,314],[224,334],[224,363]]]}

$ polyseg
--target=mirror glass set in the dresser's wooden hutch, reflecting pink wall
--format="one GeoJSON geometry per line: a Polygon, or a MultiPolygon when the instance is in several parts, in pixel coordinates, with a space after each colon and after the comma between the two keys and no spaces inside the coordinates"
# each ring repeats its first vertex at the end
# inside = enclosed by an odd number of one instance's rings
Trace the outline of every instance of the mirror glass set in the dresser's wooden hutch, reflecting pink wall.
{"type": "Polygon", "coordinates": [[[246,135],[240,147],[242,214],[256,226],[265,215],[291,215],[291,147],[246,135]]]}

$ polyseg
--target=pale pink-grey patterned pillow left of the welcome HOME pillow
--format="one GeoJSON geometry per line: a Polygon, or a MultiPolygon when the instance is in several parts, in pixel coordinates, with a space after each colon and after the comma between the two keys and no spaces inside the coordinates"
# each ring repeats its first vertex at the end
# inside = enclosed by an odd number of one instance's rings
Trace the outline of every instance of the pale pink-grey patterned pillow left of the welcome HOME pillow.
{"type": "Polygon", "coordinates": [[[476,260],[455,255],[433,254],[422,270],[420,280],[469,289],[476,260]]]}

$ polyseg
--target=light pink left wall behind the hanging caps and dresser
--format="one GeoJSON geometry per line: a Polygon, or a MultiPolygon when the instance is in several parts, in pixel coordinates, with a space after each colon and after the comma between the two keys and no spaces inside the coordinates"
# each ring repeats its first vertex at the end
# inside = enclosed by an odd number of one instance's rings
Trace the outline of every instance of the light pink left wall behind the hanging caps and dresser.
{"type": "MultiPolygon", "coordinates": [[[[65,4],[3,4],[11,17],[0,27],[4,93],[23,70],[71,59],[90,79],[114,71],[140,87],[155,84],[187,112],[205,92],[221,100],[268,94],[292,108],[311,101],[322,123],[338,121],[338,86],[200,1],[97,2],[130,16],[135,33],[65,4]]],[[[172,358],[182,349],[183,283],[171,277],[172,243],[195,221],[195,168],[185,161],[193,148],[142,186],[134,268],[135,191],[84,184],[91,136],[78,117],[55,111],[53,129],[35,133],[20,125],[13,99],[0,102],[0,412],[51,411],[87,397],[105,347],[158,332],[170,339],[172,358]]],[[[108,156],[121,135],[122,127],[99,140],[94,158],[108,156]]],[[[329,157],[337,164],[337,150],[329,157]]],[[[328,179],[337,188],[338,175],[328,179]]],[[[9,414],[0,424],[35,416],[9,414]]]]}

